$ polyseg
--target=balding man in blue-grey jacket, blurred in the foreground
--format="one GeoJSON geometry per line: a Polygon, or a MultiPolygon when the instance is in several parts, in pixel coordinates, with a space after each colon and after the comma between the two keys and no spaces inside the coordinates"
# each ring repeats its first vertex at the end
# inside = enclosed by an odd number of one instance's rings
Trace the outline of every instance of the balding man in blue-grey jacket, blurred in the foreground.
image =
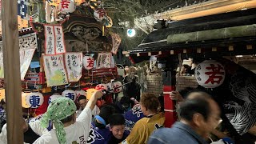
{"type": "Polygon", "coordinates": [[[206,144],[205,138],[220,120],[218,104],[204,92],[190,93],[182,102],[178,115],[180,122],[175,122],[171,128],[156,130],[148,143],[206,144]]]}

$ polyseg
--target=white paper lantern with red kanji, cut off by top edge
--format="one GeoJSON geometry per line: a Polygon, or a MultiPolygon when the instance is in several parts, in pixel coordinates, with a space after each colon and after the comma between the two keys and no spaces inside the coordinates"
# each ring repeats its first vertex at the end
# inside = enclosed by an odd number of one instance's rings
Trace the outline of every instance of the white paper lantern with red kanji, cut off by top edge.
{"type": "Polygon", "coordinates": [[[75,10],[74,1],[72,0],[62,0],[59,3],[59,7],[62,14],[70,14],[73,13],[75,10]]]}

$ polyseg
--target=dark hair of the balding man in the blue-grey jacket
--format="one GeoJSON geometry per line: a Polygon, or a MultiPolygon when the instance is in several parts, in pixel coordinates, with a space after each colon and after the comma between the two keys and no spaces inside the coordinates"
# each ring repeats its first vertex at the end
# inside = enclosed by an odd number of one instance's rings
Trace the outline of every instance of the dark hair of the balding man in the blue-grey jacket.
{"type": "Polygon", "coordinates": [[[185,102],[182,102],[178,109],[179,117],[190,122],[196,113],[202,114],[203,118],[207,121],[211,113],[210,103],[207,101],[207,98],[187,99],[185,102]]]}

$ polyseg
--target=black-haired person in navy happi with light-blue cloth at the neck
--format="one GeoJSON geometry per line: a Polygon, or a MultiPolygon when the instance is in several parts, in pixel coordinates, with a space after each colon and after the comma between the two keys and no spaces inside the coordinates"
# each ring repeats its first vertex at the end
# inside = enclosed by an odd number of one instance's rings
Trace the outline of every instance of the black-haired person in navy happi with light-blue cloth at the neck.
{"type": "Polygon", "coordinates": [[[110,129],[106,126],[109,124],[108,119],[116,113],[114,106],[102,106],[101,111],[96,115],[90,125],[90,135],[87,143],[106,144],[110,140],[110,129]]]}

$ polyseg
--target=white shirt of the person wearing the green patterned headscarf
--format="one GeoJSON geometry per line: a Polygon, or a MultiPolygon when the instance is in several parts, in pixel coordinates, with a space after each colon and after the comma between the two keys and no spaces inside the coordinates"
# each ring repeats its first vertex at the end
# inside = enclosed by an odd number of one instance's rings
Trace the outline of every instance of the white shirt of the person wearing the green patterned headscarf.
{"type": "MultiPolygon", "coordinates": [[[[85,108],[77,118],[74,124],[64,128],[66,131],[67,144],[79,143],[86,144],[86,140],[90,133],[90,123],[92,114],[90,108],[85,108]]],[[[58,138],[56,136],[55,129],[50,130],[47,134],[43,134],[38,138],[34,144],[58,144],[58,138]]]]}

